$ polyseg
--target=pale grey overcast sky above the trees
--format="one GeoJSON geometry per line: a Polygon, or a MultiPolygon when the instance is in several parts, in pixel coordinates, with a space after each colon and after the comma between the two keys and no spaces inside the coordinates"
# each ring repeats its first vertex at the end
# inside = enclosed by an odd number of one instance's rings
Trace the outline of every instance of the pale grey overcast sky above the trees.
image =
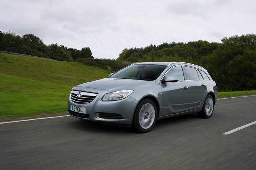
{"type": "Polygon", "coordinates": [[[125,48],[256,33],[256,0],[1,0],[0,30],[46,44],[91,48],[117,59],[125,48]]]}

